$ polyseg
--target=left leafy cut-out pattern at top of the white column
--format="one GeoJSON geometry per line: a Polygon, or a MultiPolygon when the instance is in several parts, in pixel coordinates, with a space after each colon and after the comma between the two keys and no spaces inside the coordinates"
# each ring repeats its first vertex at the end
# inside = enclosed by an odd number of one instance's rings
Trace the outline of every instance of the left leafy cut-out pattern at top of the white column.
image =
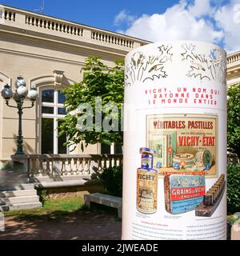
{"type": "Polygon", "coordinates": [[[147,79],[166,78],[165,69],[166,62],[172,61],[172,46],[159,46],[158,55],[145,56],[142,52],[135,52],[130,60],[130,64],[126,65],[125,81],[129,86],[135,81],[145,82],[147,79]]]}

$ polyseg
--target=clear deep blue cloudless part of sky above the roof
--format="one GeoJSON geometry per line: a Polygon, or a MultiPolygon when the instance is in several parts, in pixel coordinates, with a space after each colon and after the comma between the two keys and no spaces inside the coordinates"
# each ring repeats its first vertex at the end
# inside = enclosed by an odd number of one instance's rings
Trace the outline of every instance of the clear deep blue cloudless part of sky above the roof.
{"type": "MultiPolygon", "coordinates": [[[[14,6],[25,10],[36,10],[42,6],[42,0],[0,0],[2,4],[14,6]]],[[[114,17],[121,10],[128,10],[129,14],[141,16],[165,11],[176,0],[137,1],[137,0],[45,0],[45,13],[58,18],[97,26],[106,30],[116,30],[114,17]],[[140,3],[139,3],[140,2],[140,3]]]]}

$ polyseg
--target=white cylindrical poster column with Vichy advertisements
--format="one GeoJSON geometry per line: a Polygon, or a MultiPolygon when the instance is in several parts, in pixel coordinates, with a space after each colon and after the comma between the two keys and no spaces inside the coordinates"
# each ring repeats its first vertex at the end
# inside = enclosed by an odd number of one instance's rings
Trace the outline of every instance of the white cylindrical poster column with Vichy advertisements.
{"type": "Polygon", "coordinates": [[[226,52],[126,56],[122,239],[226,239],[226,52]]]}

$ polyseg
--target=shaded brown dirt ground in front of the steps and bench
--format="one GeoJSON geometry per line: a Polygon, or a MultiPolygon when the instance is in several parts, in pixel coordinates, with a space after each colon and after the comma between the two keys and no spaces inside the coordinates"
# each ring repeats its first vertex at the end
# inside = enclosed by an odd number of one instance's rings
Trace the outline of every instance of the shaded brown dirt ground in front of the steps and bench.
{"type": "MultiPolygon", "coordinates": [[[[121,219],[115,209],[82,204],[66,209],[49,210],[49,205],[36,210],[13,211],[6,217],[5,232],[0,240],[118,240],[121,219]],[[74,208],[74,209],[73,209],[74,208]]],[[[60,207],[61,208],[61,207],[60,207]]],[[[62,207],[64,208],[64,207],[62,207]]]]}

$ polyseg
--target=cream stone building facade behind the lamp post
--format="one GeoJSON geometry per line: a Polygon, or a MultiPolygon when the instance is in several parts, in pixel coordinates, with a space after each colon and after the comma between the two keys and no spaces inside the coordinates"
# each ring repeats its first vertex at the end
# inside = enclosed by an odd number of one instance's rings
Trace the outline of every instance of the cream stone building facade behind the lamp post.
{"type": "MultiPolygon", "coordinates": [[[[100,56],[112,66],[118,58],[146,43],[138,38],[0,6],[0,88],[8,83],[14,90],[14,81],[21,74],[26,85],[36,87],[40,95],[34,108],[24,110],[24,152],[68,153],[56,130],[58,118],[66,114],[61,90],[81,80],[80,70],[88,56],[100,56]]],[[[6,106],[0,97],[0,161],[14,154],[17,133],[17,110],[6,106]]],[[[109,150],[114,153],[114,147],[109,150]]],[[[101,146],[89,146],[84,153],[100,154],[101,146]]],[[[82,154],[82,150],[77,148],[71,154],[82,154]]]]}

